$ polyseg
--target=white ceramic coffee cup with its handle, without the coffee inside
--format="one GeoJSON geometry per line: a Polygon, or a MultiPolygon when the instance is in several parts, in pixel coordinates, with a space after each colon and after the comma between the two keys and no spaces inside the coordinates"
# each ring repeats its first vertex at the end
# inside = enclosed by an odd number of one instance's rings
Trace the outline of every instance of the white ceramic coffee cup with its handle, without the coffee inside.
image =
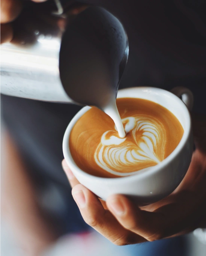
{"type": "Polygon", "coordinates": [[[63,138],[66,163],[78,181],[103,200],[112,194],[124,194],[134,197],[140,206],[154,203],[171,194],[185,176],[193,152],[191,117],[188,111],[193,104],[192,93],[184,87],[176,87],[172,91],[178,97],[182,96],[185,103],[173,93],[159,88],[135,87],[119,90],[117,98],[141,98],[162,105],[177,117],[184,129],[179,145],[167,158],[149,170],[140,170],[126,177],[96,177],[81,170],[74,162],[69,151],[69,136],[77,120],[90,109],[82,108],[69,123],[63,138]]]}

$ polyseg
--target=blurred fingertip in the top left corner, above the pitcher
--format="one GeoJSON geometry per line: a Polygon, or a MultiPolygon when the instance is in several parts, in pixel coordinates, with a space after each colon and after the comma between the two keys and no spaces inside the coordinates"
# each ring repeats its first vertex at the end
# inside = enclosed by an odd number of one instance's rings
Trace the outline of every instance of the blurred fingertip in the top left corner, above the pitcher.
{"type": "Polygon", "coordinates": [[[22,3],[20,0],[1,0],[0,1],[0,23],[8,23],[20,14],[22,3]]]}

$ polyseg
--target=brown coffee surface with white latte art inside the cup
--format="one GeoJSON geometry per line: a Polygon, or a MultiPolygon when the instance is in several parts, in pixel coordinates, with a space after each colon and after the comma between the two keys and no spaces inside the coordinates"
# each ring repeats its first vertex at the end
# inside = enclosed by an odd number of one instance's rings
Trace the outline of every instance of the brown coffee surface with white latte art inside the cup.
{"type": "Polygon", "coordinates": [[[122,177],[157,165],[173,152],[183,136],[179,120],[155,102],[117,99],[126,137],[120,138],[113,120],[91,108],[75,123],[69,149],[83,171],[99,177],[122,177]]]}

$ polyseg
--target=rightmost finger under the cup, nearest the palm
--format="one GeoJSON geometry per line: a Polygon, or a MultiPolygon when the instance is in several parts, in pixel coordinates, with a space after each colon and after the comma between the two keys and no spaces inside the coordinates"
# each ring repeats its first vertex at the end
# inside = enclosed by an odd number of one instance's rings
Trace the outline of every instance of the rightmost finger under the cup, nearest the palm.
{"type": "Polygon", "coordinates": [[[161,213],[140,210],[123,195],[107,199],[107,207],[125,229],[143,236],[147,241],[164,238],[164,216],[161,213]]]}

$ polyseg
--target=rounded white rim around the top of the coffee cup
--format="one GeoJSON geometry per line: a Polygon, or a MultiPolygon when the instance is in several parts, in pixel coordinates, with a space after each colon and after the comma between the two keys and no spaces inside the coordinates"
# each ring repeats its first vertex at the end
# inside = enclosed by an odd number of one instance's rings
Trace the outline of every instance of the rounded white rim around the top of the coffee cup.
{"type": "MultiPolygon", "coordinates": [[[[89,106],[86,106],[86,107],[83,107],[80,111],[78,111],[78,113],[75,114],[75,116],[69,122],[69,125],[67,126],[64,137],[63,137],[63,155],[65,157],[66,162],[69,163],[69,166],[71,166],[75,169],[75,172],[79,172],[81,175],[84,175],[84,177],[93,179],[95,181],[99,180],[102,182],[102,180],[104,180],[107,183],[125,182],[125,180],[130,180],[130,179],[134,180],[135,177],[143,178],[145,176],[154,174],[155,172],[162,170],[162,168],[165,168],[165,166],[168,165],[168,163],[170,163],[177,156],[177,154],[180,152],[180,150],[183,148],[183,146],[187,142],[189,134],[191,132],[191,116],[190,116],[188,108],[186,107],[186,105],[180,98],[178,98],[175,94],[171,93],[170,91],[166,91],[164,89],[156,88],[156,87],[129,87],[129,88],[121,89],[117,93],[117,98],[137,98],[132,95],[131,95],[131,97],[129,97],[129,96],[124,97],[125,91],[128,91],[128,90],[138,90],[138,91],[143,91],[143,92],[147,92],[147,93],[148,93],[148,91],[155,90],[155,91],[158,91],[158,93],[164,93],[164,94],[166,93],[168,96],[173,98],[175,101],[179,102],[179,104],[182,107],[181,109],[185,112],[184,116],[185,116],[185,120],[186,120],[184,133],[183,133],[182,139],[180,140],[179,144],[173,150],[173,152],[171,152],[171,154],[168,155],[168,157],[166,157],[164,160],[162,160],[162,162],[158,163],[155,166],[151,166],[149,169],[145,168],[145,169],[139,170],[135,174],[131,174],[128,176],[122,176],[122,177],[114,177],[114,178],[104,178],[104,177],[98,177],[95,175],[88,174],[87,172],[83,171],[81,168],[79,168],[77,166],[77,164],[74,162],[71,152],[69,150],[69,136],[70,136],[73,126],[75,125],[77,120],[80,119],[80,117],[83,116],[83,114],[86,113],[91,108],[89,106]]],[[[159,104],[159,105],[161,105],[161,104],[159,104]]]]}

